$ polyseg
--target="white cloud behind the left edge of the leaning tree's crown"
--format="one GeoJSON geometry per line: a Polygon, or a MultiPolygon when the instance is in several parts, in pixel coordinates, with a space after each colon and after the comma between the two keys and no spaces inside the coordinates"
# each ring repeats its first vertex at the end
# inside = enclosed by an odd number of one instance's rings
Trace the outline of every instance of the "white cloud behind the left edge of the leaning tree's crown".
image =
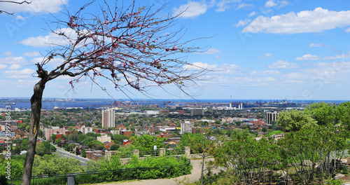
{"type": "MultiPolygon", "coordinates": [[[[56,29],[55,33],[64,33],[69,38],[76,38],[76,33],[73,29],[70,28],[62,28],[56,29]]],[[[28,39],[21,41],[23,45],[33,46],[33,47],[47,47],[50,45],[66,45],[68,41],[64,36],[59,36],[55,33],[49,32],[47,36],[31,36],[28,39]]]]}

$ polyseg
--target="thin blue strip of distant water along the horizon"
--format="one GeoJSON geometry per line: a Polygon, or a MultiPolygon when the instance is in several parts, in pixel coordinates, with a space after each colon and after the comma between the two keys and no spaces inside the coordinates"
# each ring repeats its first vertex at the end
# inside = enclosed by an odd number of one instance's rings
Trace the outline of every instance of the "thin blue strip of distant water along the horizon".
{"type": "MultiPolygon", "coordinates": [[[[124,101],[130,101],[130,100],[123,100],[124,101]]],[[[204,103],[204,102],[211,102],[211,103],[230,103],[230,100],[134,100],[134,102],[142,101],[144,103],[142,104],[165,104],[168,101],[172,101],[172,104],[174,103],[204,103]],[[147,102],[150,101],[150,102],[147,102]]],[[[298,104],[311,104],[315,102],[331,102],[335,104],[339,104],[342,102],[347,102],[349,100],[287,100],[287,102],[295,102],[298,104]]],[[[255,103],[260,102],[260,100],[232,100],[232,102],[247,102],[247,103],[255,103]]],[[[262,103],[265,102],[281,102],[281,100],[261,100],[262,103]]],[[[11,102],[10,102],[11,103],[11,102]]],[[[83,107],[83,109],[96,109],[99,107],[108,107],[113,103],[113,100],[105,100],[105,101],[93,101],[89,102],[89,100],[84,100],[82,102],[43,102],[42,103],[42,109],[46,110],[53,110],[55,107],[59,108],[67,108],[67,107],[83,107]]],[[[15,105],[10,105],[11,109],[19,108],[19,109],[31,109],[30,102],[15,102],[15,105]]],[[[5,105],[0,104],[0,108],[5,108],[5,105]]]]}

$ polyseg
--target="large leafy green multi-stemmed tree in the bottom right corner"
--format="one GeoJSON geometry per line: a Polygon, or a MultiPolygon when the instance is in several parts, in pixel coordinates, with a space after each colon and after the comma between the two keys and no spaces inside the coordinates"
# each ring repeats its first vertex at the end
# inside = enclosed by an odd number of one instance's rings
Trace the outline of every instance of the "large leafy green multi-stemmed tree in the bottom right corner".
{"type": "Polygon", "coordinates": [[[281,146],[279,155],[283,159],[281,162],[300,164],[305,160],[310,161],[311,165],[293,165],[296,175],[303,184],[311,184],[315,177],[321,183],[323,177],[334,176],[337,167],[330,163],[330,159],[342,158],[344,150],[349,149],[346,138],[349,138],[349,132],[341,127],[334,128],[332,124],[305,126],[297,132],[289,132],[278,141],[281,146]],[[316,163],[320,164],[318,171],[316,163]]]}

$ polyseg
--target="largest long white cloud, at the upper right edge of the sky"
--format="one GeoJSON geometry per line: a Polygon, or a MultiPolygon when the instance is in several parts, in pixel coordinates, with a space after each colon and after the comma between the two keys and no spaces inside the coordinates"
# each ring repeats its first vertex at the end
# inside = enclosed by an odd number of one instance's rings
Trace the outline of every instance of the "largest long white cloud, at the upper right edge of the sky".
{"type": "Polygon", "coordinates": [[[328,11],[323,8],[315,8],[314,11],[290,12],[283,15],[275,15],[272,18],[259,16],[242,32],[272,33],[272,34],[297,34],[322,32],[326,29],[346,27],[350,25],[350,11],[328,11]]]}

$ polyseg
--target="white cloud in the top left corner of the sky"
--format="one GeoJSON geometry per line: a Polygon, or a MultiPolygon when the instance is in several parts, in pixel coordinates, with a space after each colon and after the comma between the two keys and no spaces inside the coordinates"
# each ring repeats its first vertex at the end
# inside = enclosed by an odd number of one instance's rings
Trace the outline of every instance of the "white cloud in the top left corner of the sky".
{"type": "Polygon", "coordinates": [[[31,4],[1,4],[1,10],[9,13],[29,12],[29,13],[57,13],[62,10],[62,5],[69,0],[37,0],[31,4]]]}

